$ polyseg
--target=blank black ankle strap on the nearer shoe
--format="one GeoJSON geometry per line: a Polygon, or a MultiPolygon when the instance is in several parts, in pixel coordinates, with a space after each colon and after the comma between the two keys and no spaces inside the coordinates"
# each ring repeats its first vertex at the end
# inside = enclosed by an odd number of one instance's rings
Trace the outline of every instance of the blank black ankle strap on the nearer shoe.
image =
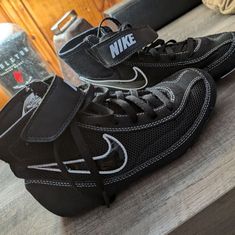
{"type": "Polygon", "coordinates": [[[52,142],[68,127],[83,105],[84,93],[55,77],[21,137],[27,142],[52,142]]]}

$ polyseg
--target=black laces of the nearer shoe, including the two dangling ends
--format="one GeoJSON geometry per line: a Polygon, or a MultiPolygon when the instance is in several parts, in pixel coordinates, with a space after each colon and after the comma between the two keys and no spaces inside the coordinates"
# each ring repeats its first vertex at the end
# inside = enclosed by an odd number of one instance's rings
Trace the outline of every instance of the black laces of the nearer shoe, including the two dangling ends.
{"type": "MultiPolygon", "coordinates": [[[[87,109],[89,109],[89,107],[92,105],[93,109],[99,109],[100,105],[103,105],[104,107],[108,107],[108,110],[112,111],[110,114],[114,114],[115,110],[112,109],[116,109],[117,113],[124,112],[130,117],[133,122],[138,121],[137,114],[139,112],[145,113],[150,118],[156,118],[157,112],[155,111],[155,108],[159,107],[160,105],[164,105],[169,110],[172,110],[172,103],[170,99],[167,97],[166,94],[158,91],[157,89],[150,88],[144,91],[133,90],[127,92],[113,92],[107,88],[95,87],[93,85],[90,85],[85,90],[84,95],[86,96],[86,98],[79,112],[86,112],[87,109]],[[98,104],[98,107],[96,107],[95,104],[98,104]]],[[[109,207],[110,202],[113,200],[113,198],[110,197],[109,193],[105,189],[103,177],[99,174],[98,166],[96,165],[96,162],[93,161],[90,154],[89,146],[84,140],[81,130],[77,127],[76,122],[71,123],[70,131],[77,146],[78,153],[85,159],[91,177],[96,183],[96,189],[103,198],[104,203],[109,207]]],[[[67,180],[69,180],[76,193],[83,194],[83,192],[77,188],[76,181],[73,175],[69,173],[67,166],[61,160],[60,148],[62,141],[63,140],[59,138],[54,142],[53,147],[55,160],[62,174],[67,180]]],[[[87,195],[84,194],[83,196],[87,195]]]]}

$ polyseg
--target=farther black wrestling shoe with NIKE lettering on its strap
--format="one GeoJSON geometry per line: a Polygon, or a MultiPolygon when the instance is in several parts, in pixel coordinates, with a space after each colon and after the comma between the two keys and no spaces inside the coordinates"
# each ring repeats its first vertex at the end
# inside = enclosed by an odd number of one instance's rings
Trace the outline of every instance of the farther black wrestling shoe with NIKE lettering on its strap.
{"type": "Polygon", "coordinates": [[[235,68],[234,33],[164,42],[149,27],[132,28],[111,20],[118,31],[93,28],[60,50],[60,57],[87,83],[142,89],[187,67],[205,69],[215,79],[235,68]]]}

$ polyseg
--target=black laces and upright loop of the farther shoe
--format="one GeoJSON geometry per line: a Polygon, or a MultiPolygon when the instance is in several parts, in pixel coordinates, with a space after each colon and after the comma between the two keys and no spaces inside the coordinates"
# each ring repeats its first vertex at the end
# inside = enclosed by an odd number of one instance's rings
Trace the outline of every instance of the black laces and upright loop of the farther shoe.
{"type": "MultiPolygon", "coordinates": [[[[105,21],[112,21],[117,26],[118,32],[123,31],[127,28],[132,28],[132,26],[128,23],[121,24],[117,19],[107,17],[101,21],[98,27],[97,37],[99,38],[107,36],[107,27],[102,26],[105,21]]],[[[110,32],[112,32],[111,29],[110,32]]],[[[182,42],[177,42],[173,39],[164,41],[163,39],[156,38],[153,43],[143,48],[143,50],[140,51],[139,54],[150,54],[154,57],[159,56],[159,54],[167,54],[169,58],[173,60],[175,59],[175,53],[179,53],[182,51],[187,52],[188,57],[191,57],[194,53],[194,48],[195,40],[193,38],[188,38],[182,42]]]]}

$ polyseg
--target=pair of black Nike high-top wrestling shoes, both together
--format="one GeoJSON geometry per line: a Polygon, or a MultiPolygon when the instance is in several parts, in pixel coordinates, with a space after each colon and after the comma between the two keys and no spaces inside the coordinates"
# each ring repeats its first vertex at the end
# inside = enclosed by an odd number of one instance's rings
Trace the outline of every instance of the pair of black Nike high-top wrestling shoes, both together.
{"type": "Polygon", "coordinates": [[[233,33],[165,43],[148,27],[116,23],[117,32],[91,29],[60,52],[99,86],[33,82],[0,113],[0,158],[61,216],[109,206],[130,182],[182,155],[215,105],[208,72],[219,78],[235,62],[233,33]]]}

